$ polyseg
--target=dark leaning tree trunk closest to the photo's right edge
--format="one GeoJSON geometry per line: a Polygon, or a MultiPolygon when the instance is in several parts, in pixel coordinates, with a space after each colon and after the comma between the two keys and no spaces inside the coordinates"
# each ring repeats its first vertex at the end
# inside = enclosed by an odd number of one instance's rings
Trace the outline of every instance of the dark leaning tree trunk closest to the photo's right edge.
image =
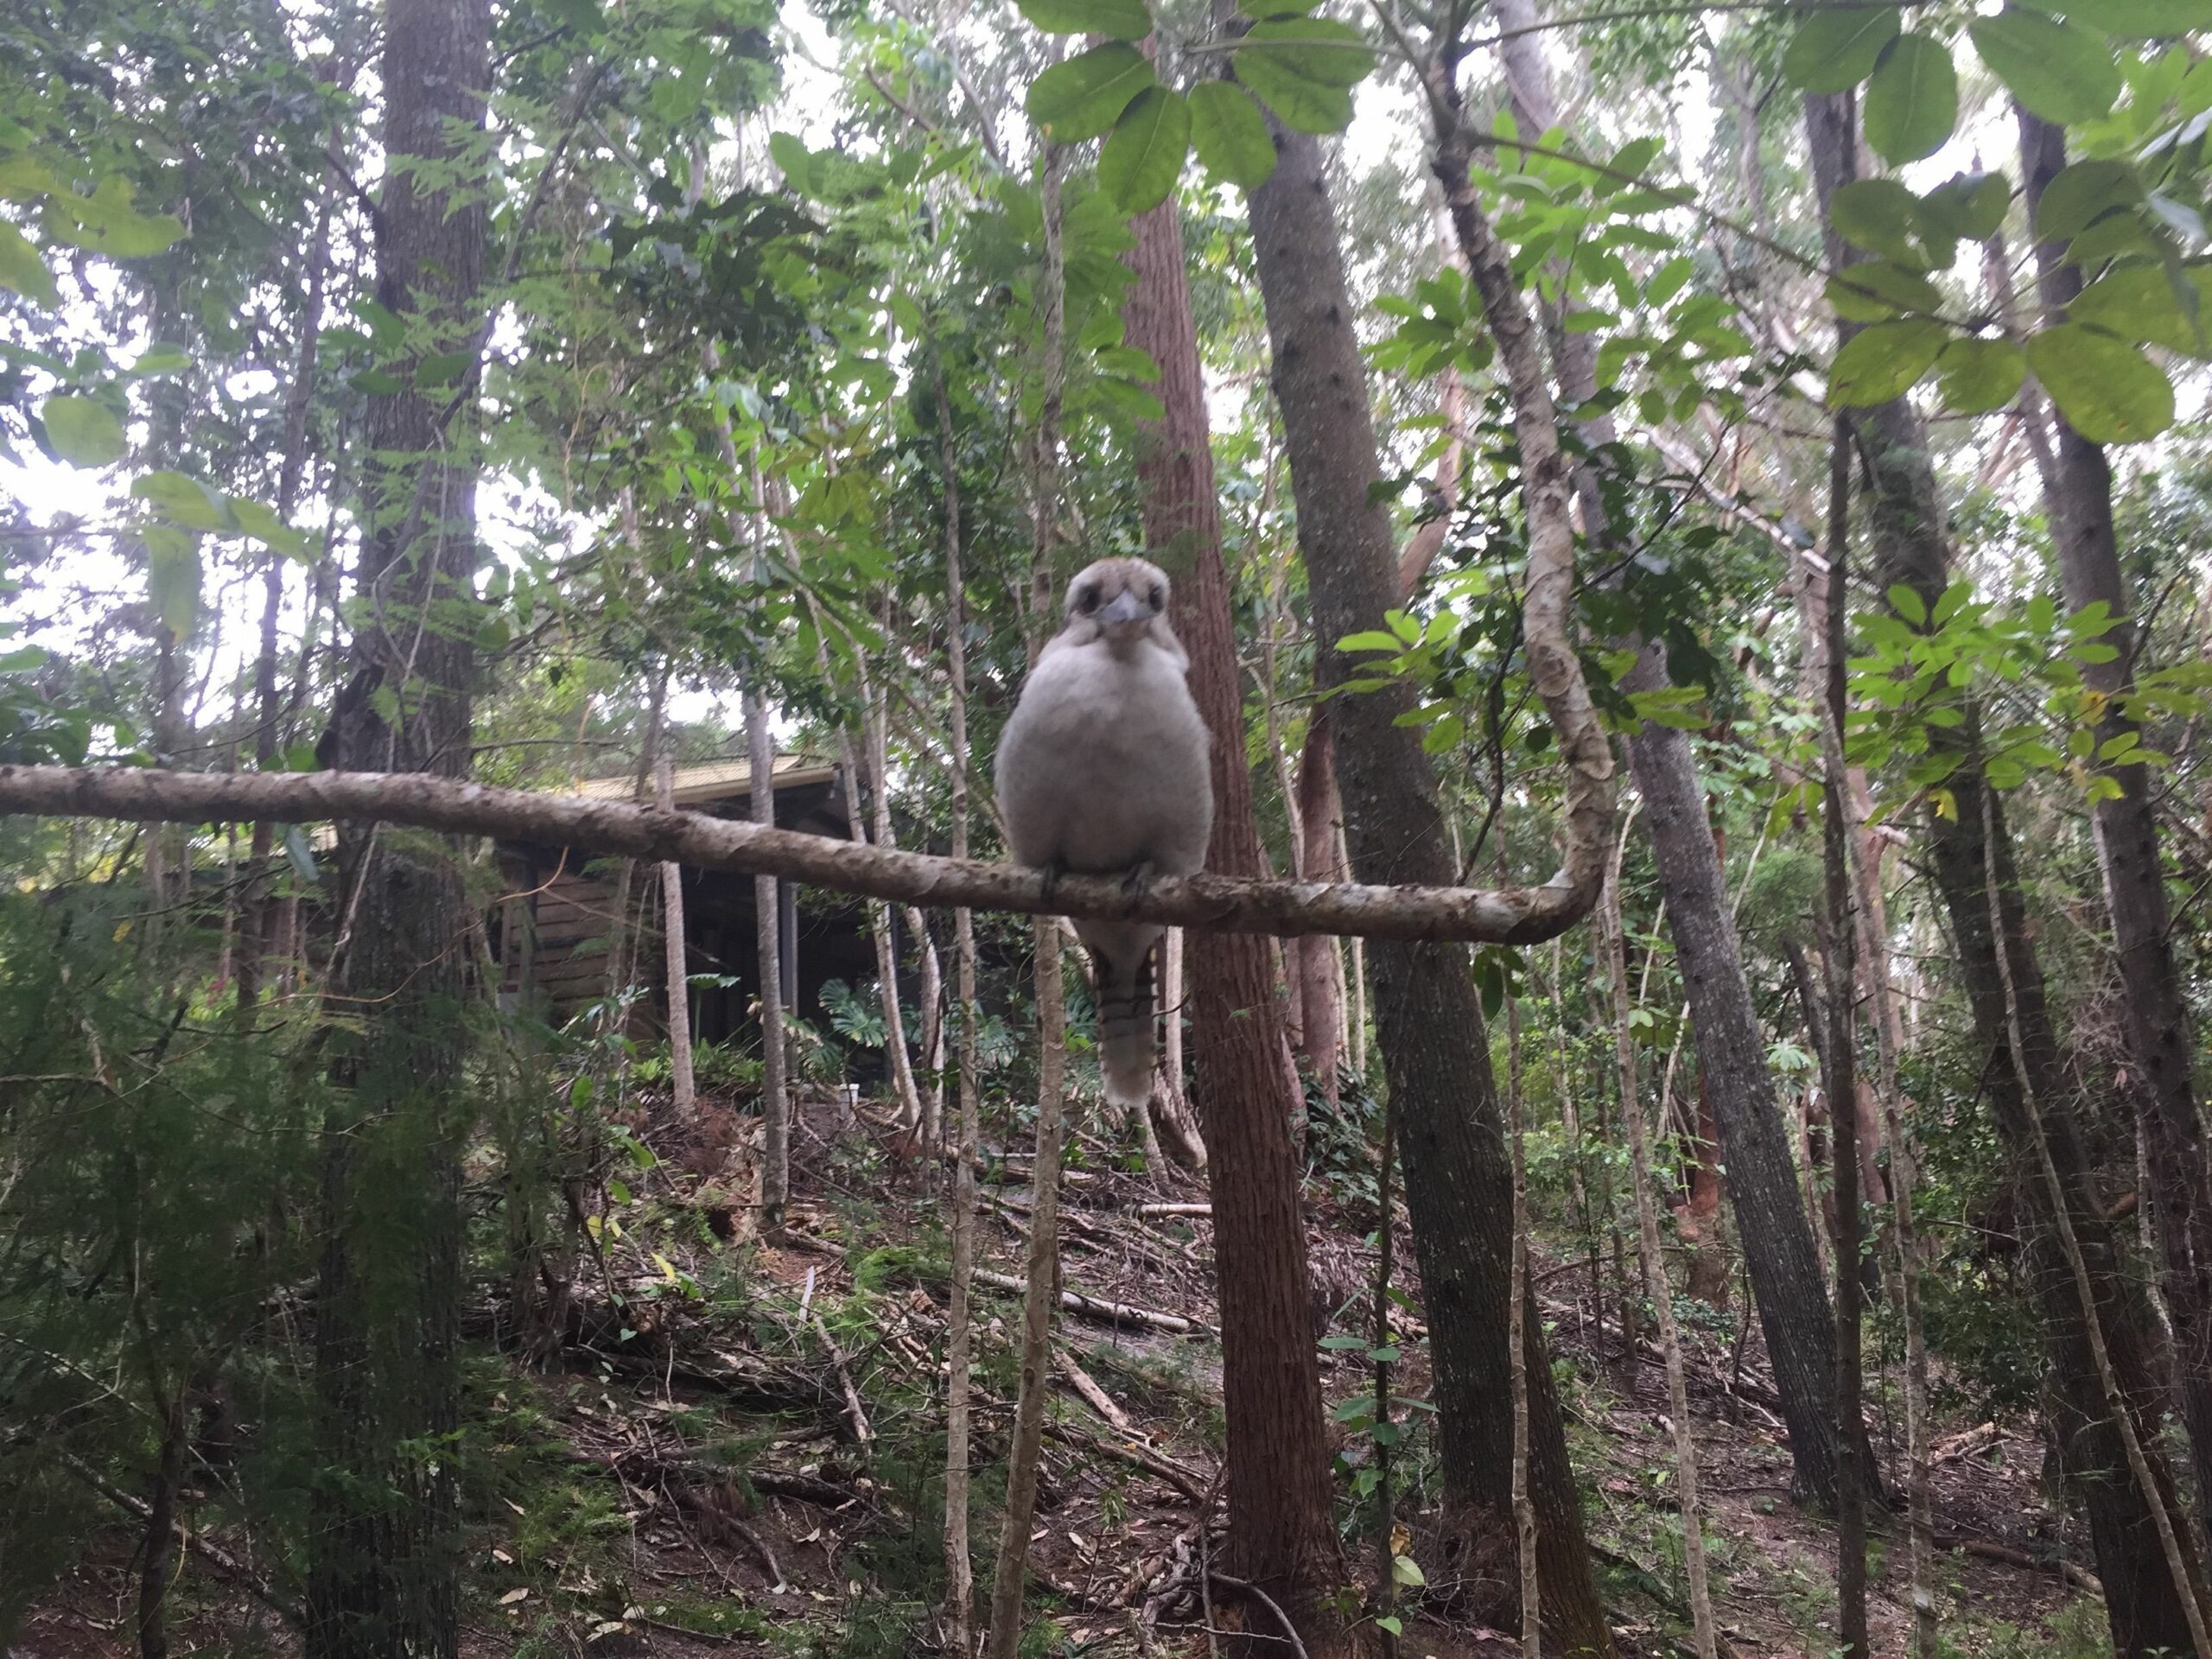
{"type": "MultiPolygon", "coordinates": [[[[2031,215],[2044,188],[2066,166],[2066,133],[2020,111],[2020,173],[2031,215]]],[[[2057,314],[2081,292],[2081,272],[2057,243],[2035,248],[2044,310],[2057,314]]],[[[2112,469],[2104,449],[2057,425],[2048,518],[2059,553],[2066,604],[2075,611],[2106,604],[2119,622],[2104,641],[2119,650],[2108,664],[2084,664],[2081,679],[2104,692],[2097,723],[2099,752],[2139,732],[2126,697],[2135,688],[2141,641],[2128,615],[2128,584],[2112,535],[2112,469]]],[[[2166,872],[2159,863],[2159,823],[2148,765],[2108,770],[2119,787],[2095,803],[2097,867],[2112,911],[2112,945],[2128,1009],[2128,1040],[2143,1068],[2148,1102],[2150,1201],[2163,1256],[2161,1290],[2174,1329],[2174,1374],[2181,1416],[2190,1429],[2199,1511],[2212,1517],[2212,1164],[2205,1159],[2197,1086],[2190,1075],[2190,1006],[2174,969],[2168,936],[2166,872]]]]}

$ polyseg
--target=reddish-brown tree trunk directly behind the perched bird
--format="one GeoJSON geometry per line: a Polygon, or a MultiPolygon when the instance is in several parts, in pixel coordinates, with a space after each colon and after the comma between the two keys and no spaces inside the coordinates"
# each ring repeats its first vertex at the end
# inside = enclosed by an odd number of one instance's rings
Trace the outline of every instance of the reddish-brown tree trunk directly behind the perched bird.
{"type": "MultiPolygon", "coordinates": [[[[1137,445],[1144,540],[1152,549],[1188,549],[1188,562],[1177,560],[1175,568],[1175,628],[1190,653],[1190,692],[1212,734],[1214,830],[1206,867],[1256,876],[1265,856],[1252,818],[1243,686],[1177,204],[1141,215],[1135,232],[1137,285],[1124,319],[1128,343],[1159,365],[1166,409],[1137,445]]],[[[1237,1577],[1290,1610],[1310,1648],[1338,1650],[1340,1619],[1323,1608],[1323,1597],[1343,1582],[1345,1562],[1332,1520],[1305,1214],[1290,1144],[1301,1102],[1283,1077],[1283,1006],[1265,940],[1201,931],[1190,936],[1188,951],[1190,1048],[1210,1155],[1221,1301],[1228,1562],[1237,1577]]]]}

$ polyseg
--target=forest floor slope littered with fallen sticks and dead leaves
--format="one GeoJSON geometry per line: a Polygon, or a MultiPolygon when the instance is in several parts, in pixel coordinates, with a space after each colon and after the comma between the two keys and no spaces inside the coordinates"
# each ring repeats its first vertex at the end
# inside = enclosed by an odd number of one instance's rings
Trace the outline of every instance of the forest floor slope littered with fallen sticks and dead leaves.
{"type": "MultiPolygon", "coordinates": [[[[730,1121],[730,1119],[723,1119],[730,1121]]],[[[465,1641],[469,1659],[524,1655],[867,1655],[933,1652],[929,1601],[942,1571],[945,1230],[914,1161],[830,1102],[794,1137],[790,1241],[728,1239],[732,1190],[688,1175],[719,1148],[684,1146],[639,1121],[664,1152],[630,1170],[622,1223],[586,1256],[566,1343],[524,1365],[498,1340],[471,1367],[462,1469],[469,1491],[465,1641]]],[[[1066,1365],[1048,1413],[1046,1473],[1031,1542],[1040,1601],[1024,1652],[1208,1655],[1206,1621],[1243,1608],[1197,1586],[1221,1548],[1219,1343],[1203,1214],[1137,1206],[1203,1203],[1186,1175],[1139,1175],[1079,1137],[1062,1212],[1064,1287],[1144,1310],[1108,1321],[1064,1312],[1066,1365]],[[1172,1329],[1183,1323],[1186,1329],[1172,1329]],[[1091,1398],[1086,1398],[1091,1396],[1091,1398]],[[1119,1413],[1124,1422],[1108,1420],[1119,1413]],[[1212,1526],[1201,1528],[1201,1513],[1212,1526]]],[[[1022,1272],[1024,1157],[991,1161],[980,1261],[1022,1272]]],[[[1363,1334],[1374,1250],[1316,1183],[1310,1206],[1316,1336],[1363,1334]]],[[[1648,1343],[1624,1360],[1619,1325],[1590,1294],[1586,1263],[1537,1261],[1593,1544],[1624,1655],[1692,1652],[1681,1590],[1666,1376],[1648,1343]]],[[[1686,1303],[1686,1307],[1690,1307],[1686,1303]]],[[[1015,1391],[1013,1294],[978,1292],[973,1542],[989,1577],[995,1500],[1015,1391]]],[[[504,1323],[484,1314],[487,1332],[504,1323]]],[[[1717,1615],[1728,1650],[1823,1657],[1834,1648],[1834,1533],[1790,1500],[1790,1458],[1756,1327],[1734,1310],[1692,1321],[1690,1407],[1708,1500],[1717,1615]]],[[[1409,1345],[1398,1391],[1420,1396],[1409,1345]]],[[[1329,1402],[1371,1391],[1356,1349],[1323,1354],[1329,1402]]],[[[1420,1413],[1416,1413],[1416,1425],[1420,1413]]],[[[2093,1579],[2068,1559],[2068,1528],[2037,1484],[2028,1425],[1938,1425],[1936,1559],[1951,1655],[2088,1659],[2106,1652],[2093,1579]],[[1949,1442],[1942,1436],[1951,1436],[1949,1442]]],[[[1876,1418],[1876,1449],[1902,1480],[1902,1429],[1876,1418]]],[[[1352,1460],[1367,1442],[1345,1442],[1352,1460]]],[[[1520,1644],[1478,1621],[1498,1599],[1453,1582],[1438,1531],[1436,1453],[1416,1431],[1400,1453],[1400,1517],[1429,1579],[1407,1608],[1407,1655],[1473,1659],[1520,1644]]],[[[1347,1511],[1349,1513],[1349,1511],[1347,1511]]],[[[119,1515],[122,1520],[122,1515],[119,1515]]],[[[248,1593],[254,1540],[186,1506],[230,1566],[179,1575],[173,1655],[292,1655],[283,1617],[248,1593]]],[[[195,1533],[195,1537],[201,1537],[195,1533]]],[[[104,1659],[135,1644],[137,1531],[77,1566],[20,1630],[9,1659],[104,1659]]],[[[1349,1542],[1371,1579],[1374,1544],[1349,1542]]],[[[1876,1517],[1876,1652],[1905,1655],[1909,1584],[1902,1520],[1876,1517]]],[[[270,1590],[268,1582],[259,1584],[270,1590]]],[[[283,1604],[283,1590],[270,1590],[283,1604]]],[[[1263,1615],[1254,1628],[1265,1628],[1263,1615]]],[[[1283,1648],[1287,1652],[1287,1644],[1283,1648]]]]}

